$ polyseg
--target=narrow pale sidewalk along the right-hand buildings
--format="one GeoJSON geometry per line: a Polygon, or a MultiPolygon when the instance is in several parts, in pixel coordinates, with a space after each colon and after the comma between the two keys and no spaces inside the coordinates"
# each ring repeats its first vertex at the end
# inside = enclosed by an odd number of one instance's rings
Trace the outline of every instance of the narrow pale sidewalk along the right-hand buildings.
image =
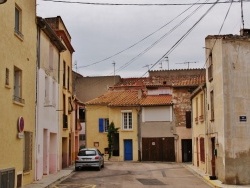
{"type": "Polygon", "coordinates": [[[190,164],[183,164],[188,170],[200,176],[205,182],[215,188],[240,188],[240,187],[250,187],[250,185],[226,185],[223,184],[220,180],[210,180],[209,175],[203,172],[202,170],[198,169],[197,167],[190,164]]]}

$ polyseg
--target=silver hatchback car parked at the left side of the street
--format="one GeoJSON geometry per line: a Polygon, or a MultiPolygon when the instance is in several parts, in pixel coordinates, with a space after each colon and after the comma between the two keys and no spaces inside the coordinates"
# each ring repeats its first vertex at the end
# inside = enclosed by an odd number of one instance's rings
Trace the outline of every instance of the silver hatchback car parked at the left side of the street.
{"type": "Polygon", "coordinates": [[[96,148],[81,149],[75,160],[75,171],[84,167],[95,167],[101,170],[104,167],[103,154],[96,148]]]}

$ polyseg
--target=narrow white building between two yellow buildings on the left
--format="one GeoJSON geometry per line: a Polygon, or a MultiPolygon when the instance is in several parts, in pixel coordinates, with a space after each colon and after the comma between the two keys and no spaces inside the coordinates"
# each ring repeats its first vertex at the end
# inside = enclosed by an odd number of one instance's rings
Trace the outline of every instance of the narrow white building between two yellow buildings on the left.
{"type": "Polygon", "coordinates": [[[65,50],[61,40],[45,19],[37,17],[38,66],[36,104],[35,179],[57,172],[59,168],[59,63],[65,50]]]}

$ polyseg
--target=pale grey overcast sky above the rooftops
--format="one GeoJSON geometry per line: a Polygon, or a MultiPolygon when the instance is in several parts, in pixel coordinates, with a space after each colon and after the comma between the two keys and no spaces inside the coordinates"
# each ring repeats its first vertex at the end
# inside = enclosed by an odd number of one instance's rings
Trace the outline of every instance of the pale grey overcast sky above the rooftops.
{"type": "MultiPolygon", "coordinates": [[[[117,4],[215,2],[215,0],[65,1],[117,4]]],[[[230,3],[216,4],[213,8],[211,4],[200,8],[200,5],[191,4],[111,6],[44,0],[37,0],[37,4],[38,16],[43,18],[61,16],[63,19],[75,49],[73,64],[77,64],[77,72],[83,76],[109,76],[115,72],[121,77],[141,77],[147,76],[149,68],[151,70],[205,68],[203,48],[205,37],[219,34],[223,23],[220,34],[239,34],[243,28],[241,3],[233,3],[231,8],[230,3]],[[210,8],[212,9],[209,10],[210,8]],[[119,54],[115,55],[117,53],[119,54]],[[168,57],[168,63],[166,58],[163,58],[164,55],[168,57]],[[104,59],[106,60],[102,61],[104,59]]],[[[244,28],[250,28],[250,2],[243,2],[243,15],[244,28]]]]}

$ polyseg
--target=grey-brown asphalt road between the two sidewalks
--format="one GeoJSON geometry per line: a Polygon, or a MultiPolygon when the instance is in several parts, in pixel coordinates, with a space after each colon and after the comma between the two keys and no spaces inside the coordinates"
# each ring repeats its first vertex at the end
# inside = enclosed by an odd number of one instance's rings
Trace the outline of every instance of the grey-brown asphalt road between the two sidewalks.
{"type": "Polygon", "coordinates": [[[55,188],[209,188],[180,163],[106,162],[101,171],[84,169],[55,188]]]}

